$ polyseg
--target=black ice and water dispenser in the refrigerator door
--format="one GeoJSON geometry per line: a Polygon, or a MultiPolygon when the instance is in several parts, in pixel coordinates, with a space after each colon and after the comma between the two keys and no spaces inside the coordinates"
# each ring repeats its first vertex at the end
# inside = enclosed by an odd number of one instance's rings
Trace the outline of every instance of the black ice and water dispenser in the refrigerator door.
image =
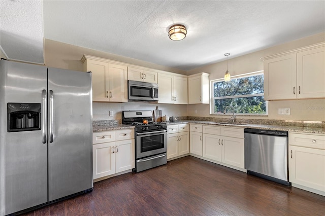
{"type": "Polygon", "coordinates": [[[8,103],[8,132],[41,130],[41,103],[8,103]]]}

